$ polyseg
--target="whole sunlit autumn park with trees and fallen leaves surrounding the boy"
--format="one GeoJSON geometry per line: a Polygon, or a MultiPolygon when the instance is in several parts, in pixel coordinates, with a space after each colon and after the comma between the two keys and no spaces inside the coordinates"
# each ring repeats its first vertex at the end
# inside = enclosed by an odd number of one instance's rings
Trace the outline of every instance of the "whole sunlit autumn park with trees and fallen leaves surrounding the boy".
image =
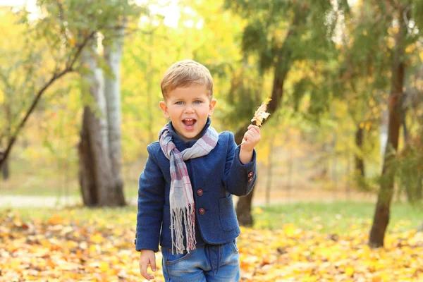
{"type": "Polygon", "coordinates": [[[0,281],[147,281],[140,175],[184,59],[236,145],[269,102],[240,281],[423,281],[423,1],[0,0],[0,35],[0,281]]]}

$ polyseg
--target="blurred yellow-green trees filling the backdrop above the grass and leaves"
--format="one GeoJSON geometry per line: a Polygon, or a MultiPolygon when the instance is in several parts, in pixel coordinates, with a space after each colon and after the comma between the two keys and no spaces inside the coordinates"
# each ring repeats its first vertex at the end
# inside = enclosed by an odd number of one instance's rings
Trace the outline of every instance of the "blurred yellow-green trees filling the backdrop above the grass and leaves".
{"type": "Polygon", "coordinates": [[[219,131],[272,98],[253,202],[375,199],[389,152],[398,199],[422,198],[421,1],[0,5],[1,204],[134,201],[181,59],[212,72],[219,131]]]}

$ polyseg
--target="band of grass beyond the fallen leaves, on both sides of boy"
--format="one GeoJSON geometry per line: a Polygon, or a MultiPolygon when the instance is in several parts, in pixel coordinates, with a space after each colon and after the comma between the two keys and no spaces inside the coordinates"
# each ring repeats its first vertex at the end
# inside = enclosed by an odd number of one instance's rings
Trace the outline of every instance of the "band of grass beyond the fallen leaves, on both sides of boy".
{"type": "MultiPolygon", "coordinates": [[[[4,209],[0,209],[4,212],[4,209]]],[[[61,216],[63,219],[96,222],[106,226],[114,222],[128,228],[135,228],[137,207],[87,208],[68,207],[63,209],[14,208],[13,212],[23,220],[50,219],[61,216]]],[[[287,203],[253,208],[254,228],[277,230],[286,224],[303,230],[319,233],[346,234],[353,229],[369,230],[372,225],[374,204],[370,202],[310,202],[287,203]]],[[[402,232],[417,228],[423,221],[422,207],[394,203],[391,206],[391,222],[388,232],[402,232]]]]}

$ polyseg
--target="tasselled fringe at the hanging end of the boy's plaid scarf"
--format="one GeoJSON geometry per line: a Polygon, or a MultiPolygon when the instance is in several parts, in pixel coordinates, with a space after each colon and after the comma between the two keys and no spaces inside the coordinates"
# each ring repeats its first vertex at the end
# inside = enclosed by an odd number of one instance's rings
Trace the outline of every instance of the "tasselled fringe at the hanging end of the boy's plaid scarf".
{"type": "Polygon", "coordinates": [[[195,250],[197,241],[195,240],[195,210],[193,204],[190,204],[188,208],[171,210],[171,235],[172,255],[174,248],[177,254],[183,254],[185,251],[190,253],[190,251],[195,250]],[[183,226],[185,226],[186,249],[183,242],[183,226]]]}

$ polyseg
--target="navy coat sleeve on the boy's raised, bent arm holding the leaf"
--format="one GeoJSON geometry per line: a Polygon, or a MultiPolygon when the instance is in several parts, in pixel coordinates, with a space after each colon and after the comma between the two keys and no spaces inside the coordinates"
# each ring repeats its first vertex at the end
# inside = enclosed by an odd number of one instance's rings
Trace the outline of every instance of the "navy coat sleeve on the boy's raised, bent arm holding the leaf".
{"type": "Polygon", "coordinates": [[[240,162],[240,146],[235,143],[233,133],[228,132],[228,150],[226,152],[225,173],[223,183],[226,190],[236,196],[248,195],[257,178],[256,152],[252,153],[252,161],[248,164],[240,162]]]}

